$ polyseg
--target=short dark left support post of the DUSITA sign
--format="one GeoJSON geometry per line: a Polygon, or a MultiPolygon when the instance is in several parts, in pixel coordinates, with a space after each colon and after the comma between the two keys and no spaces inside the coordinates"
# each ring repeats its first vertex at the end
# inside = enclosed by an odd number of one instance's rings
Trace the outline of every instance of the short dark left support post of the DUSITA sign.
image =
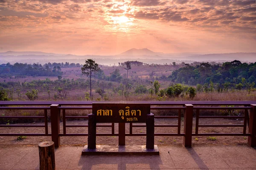
{"type": "Polygon", "coordinates": [[[88,149],[96,149],[96,115],[88,115],[88,149]]]}

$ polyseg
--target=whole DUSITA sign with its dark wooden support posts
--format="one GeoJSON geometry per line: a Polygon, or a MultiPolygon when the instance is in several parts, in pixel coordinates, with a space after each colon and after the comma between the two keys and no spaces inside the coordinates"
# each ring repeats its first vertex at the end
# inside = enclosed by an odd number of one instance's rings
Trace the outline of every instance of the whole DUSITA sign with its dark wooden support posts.
{"type": "MultiPolygon", "coordinates": [[[[99,153],[96,146],[96,123],[119,123],[118,151],[120,151],[121,146],[125,148],[125,123],[146,123],[144,153],[145,151],[150,151],[151,154],[154,152],[153,154],[159,155],[158,148],[154,148],[156,146],[154,145],[154,114],[150,113],[149,103],[93,103],[93,113],[89,114],[88,117],[88,145],[82,151],[82,154],[99,153]]],[[[127,148],[125,152],[122,152],[122,150],[121,152],[115,152],[115,154],[118,153],[127,153],[127,148]]]]}

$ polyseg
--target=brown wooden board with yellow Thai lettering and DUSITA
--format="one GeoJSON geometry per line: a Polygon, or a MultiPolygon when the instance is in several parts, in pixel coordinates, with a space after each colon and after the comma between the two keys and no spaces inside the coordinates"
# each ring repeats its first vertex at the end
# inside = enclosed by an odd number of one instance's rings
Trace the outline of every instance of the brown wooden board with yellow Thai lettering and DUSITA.
{"type": "Polygon", "coordinates": [[[145,123],[149,103],[93,103],[97,123],[145,123]]]}

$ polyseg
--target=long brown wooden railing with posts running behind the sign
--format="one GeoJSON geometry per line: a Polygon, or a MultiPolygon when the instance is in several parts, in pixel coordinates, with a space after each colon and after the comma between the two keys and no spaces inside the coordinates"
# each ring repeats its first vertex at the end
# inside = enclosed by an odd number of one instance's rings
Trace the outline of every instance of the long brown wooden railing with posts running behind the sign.
{"type": "MultiPolygon", "coordinates": [[[[98,101],[95,101],[98,102],[98,101]]],[[[112,103],[120,101],[113,101],[112,103]]],[[[88,119],[88,116],[67,116],[66,110],[91,110],[93,101],[0,101],[0,110],[44,110],[44,116],[0,116],[3,119],[25,118],[44,119],[44,125],[0,125],[0,127],[44,127],[45,133],[0,133],[0,136],[52,136],[55,147],[58,147],[61,136],[88,136],[88,133],[67,133],[68,127],[88,127],[88,125],[67,124],[66,119],[88,119]],[[15,106],[15,107],[14,107],[15,106]],[[18,106],[18,107],[16,107],[18,106]],[[28,107],[30,106],[30,107],[28,107]],[[41,106],[41,107],[38,107],[41,106]],[[79,107],[77,107],[79,106],[79,107]],[[51,133],[48,133],[47,110],[50,110],[51,133]],[[62,111],[62,112],[61,112],[62,111]],[[63,117],[63,132],[60,132],[60,114],[63,117]]],[[[99,102],[100,103],[100,102],[99,102]]],[[[256,101],[131,101],[124,103],[150,103],[151,110],[178,110],[175,116],[154,116],[154,118],[177,119],[177,124],[155,124],[155,127],[177,127],[177,133],[154,133],[155,136],[183,136],[185,147],[191,147],[192,136],[248,136],[248,144],[256,147],[256,101]],[[195,105],[195,107],[194,107],[195,105]],[[163,107],[164,106],[164,107],[163,107]],[[178,106],[178,107],[177,107],[178,106]],[[207,106],[207,107],[202,107],[207,106]],[[211,107],[209,107],[211,106],[211,107]],[[235,107],[216,107],[235,106],[235,107]],[[244,110],[243,116],[201,116],[200,110],[244,110]],[[196,112],[195,133],[193,129],[193,112],[196,112]],[[184,115],[184,131],[181,132],[181,115],[184,115]],[[250,113],[250,116],[249,116],[250,113]],[[243,118],[243,124],[199,124],[203,118],[243,118]],[[247,132],[248,125],[248,132],[247,132]],[[198,133],[198,127],[243,127],[241,133],[198,133]]],[[[125,136],[145,136],[145,133],[133,133],[133,127],[146,127],[129,123],[129,133],[125,136]]],[[[119,136],[115,133],[114,123],[97,124],[97,127],[111,127],[111,133],[97,133],[98,136],[119,136]]]]}

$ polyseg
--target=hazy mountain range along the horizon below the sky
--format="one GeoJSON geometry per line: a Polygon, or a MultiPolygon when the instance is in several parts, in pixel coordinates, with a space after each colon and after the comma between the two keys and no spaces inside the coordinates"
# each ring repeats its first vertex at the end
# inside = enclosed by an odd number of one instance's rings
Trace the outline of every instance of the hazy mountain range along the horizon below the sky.
{"type": "Polygon", "coordinates": [[[99,64],[110,64],[124,62],[128,60],[137,60],[143,63],[192,63],[194,61],[233,61],[240,60],[242,62],[256,62],[255,52],[239,52],[239,53],[216,53],[216,54],[199,54],[199,53],[163,53],[154,52],[149,49],[129,49],[118,55],[66,55],[47,52],[0,52],[1,63],[48,63],[48,62],[73,62],[84,63],[86,59],[95,59],[99,64]]]}

